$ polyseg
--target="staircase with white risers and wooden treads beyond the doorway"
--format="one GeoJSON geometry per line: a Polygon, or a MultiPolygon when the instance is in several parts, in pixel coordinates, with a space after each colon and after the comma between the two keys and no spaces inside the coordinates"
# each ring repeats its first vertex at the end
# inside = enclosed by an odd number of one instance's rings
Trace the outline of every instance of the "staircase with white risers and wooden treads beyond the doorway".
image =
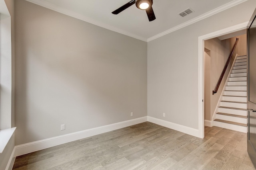
{"type": "Polygon", "coordinates": [[[214,126],[247,133],[247,56],[236,57],[224,88],[214,126]]]}

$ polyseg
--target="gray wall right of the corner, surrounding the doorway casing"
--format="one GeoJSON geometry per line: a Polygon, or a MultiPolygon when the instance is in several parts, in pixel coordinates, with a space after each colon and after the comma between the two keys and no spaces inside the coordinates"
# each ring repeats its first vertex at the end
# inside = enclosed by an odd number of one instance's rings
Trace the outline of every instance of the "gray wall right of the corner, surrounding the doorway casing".
{"type": "Polygon", "coordinates": [[[148,116],[198,129],[198,37],[248,21],[254,9],[248,0],[148,43],[148,116]]]}

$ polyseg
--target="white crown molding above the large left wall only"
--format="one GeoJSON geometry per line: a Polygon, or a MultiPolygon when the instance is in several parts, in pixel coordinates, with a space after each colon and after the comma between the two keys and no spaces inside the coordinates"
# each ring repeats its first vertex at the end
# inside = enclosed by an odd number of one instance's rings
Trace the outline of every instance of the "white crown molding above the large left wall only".
{"type": "Polygon", "coordinates": [[[84,15],[78,14],[78,13],[73,12],[71,10],[67,10],[65,8],[61,8],[60,6],[51,4],[49,2],[45,2],[45,1],[42,1],[42,0],[26,0],[26,1],[31,2],[33,4],[36,4],[36,5],[39,5],[39,6],[42,6],[42,7],[45,7],[45,8],[48,8],[50,10],[54,10],[54,11],[59,12],[61,14],[65,14],[67,16],[71,16],[71,17],[76,18],[78,20],[86,21],[88,23],[92,23],[92,24],[97,25],[99,27],[103,27],[103,28],[109,29],[110,31],[114,31],[114,32],[117,32],[117,33],[120,33],[120,34],[123,34],[123,35],[127,35],[129,37],[132,37],[132,38],[139,39],[139,40],[147,42],[147,39],[144,38],[144,37],[141,37],[139,35],[130,33],[128,31],[124,31],[123,29],[119,29],[119,28],[113,27],[113,26],[108,25],[106,23],[96,21],[96,20],[94,20],[92,18],[89,18],[89,17],[86,17],[84,15]]]}

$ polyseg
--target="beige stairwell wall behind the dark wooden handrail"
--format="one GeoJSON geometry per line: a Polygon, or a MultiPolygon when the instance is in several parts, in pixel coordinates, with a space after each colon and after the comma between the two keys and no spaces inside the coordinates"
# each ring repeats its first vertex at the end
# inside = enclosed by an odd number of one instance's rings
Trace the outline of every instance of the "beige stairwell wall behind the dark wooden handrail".
{"type": "Polygon", "coordinates": [[[222,89],[224,88],[224,84],[228,77],[228,73],[230,71],[232,61],[230,61],[230,64],[225,72],[225,75],[222,79],[218,92],[212,95],[212,91],[215,89],[216,84],[218,83],[218,80],[226,64],[226,61],[228,60],[232,47],[230,44],[230,39],[220,41],[218,38],[204,41],[204,47],[210,50],[210,83],[205,84],[205,86],[210,85],[207,88],[207,90],[209,91],[206,92],[210,94],[209,96],[210,98],[205,98],[205,102],[210,103],[210,109],[207,107],[205,108],[208,111],[205,112],[204,118],[206,120],[211,121],[214,111],[216,109],[216,106],[218,105],[218,101],[222,93],[222,89]],[[210,100],[210,101],[207,101],[207,100],[210,100]],[[209,110],[210,110],[210,113],[209,113],[209,110]]]}

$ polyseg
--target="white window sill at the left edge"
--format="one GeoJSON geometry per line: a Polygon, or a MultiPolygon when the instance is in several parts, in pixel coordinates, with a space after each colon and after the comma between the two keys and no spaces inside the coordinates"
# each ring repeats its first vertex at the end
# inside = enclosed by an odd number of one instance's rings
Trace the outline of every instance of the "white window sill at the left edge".
{"type": "Polygon", "coordinates": [[[12,137],[12,134],[14,133],[16,127],[10,128],[10,129],[3,129],[0,130],[0,154],[4,151],[4,148],[8,144],[9,140],[12,137]]]}

